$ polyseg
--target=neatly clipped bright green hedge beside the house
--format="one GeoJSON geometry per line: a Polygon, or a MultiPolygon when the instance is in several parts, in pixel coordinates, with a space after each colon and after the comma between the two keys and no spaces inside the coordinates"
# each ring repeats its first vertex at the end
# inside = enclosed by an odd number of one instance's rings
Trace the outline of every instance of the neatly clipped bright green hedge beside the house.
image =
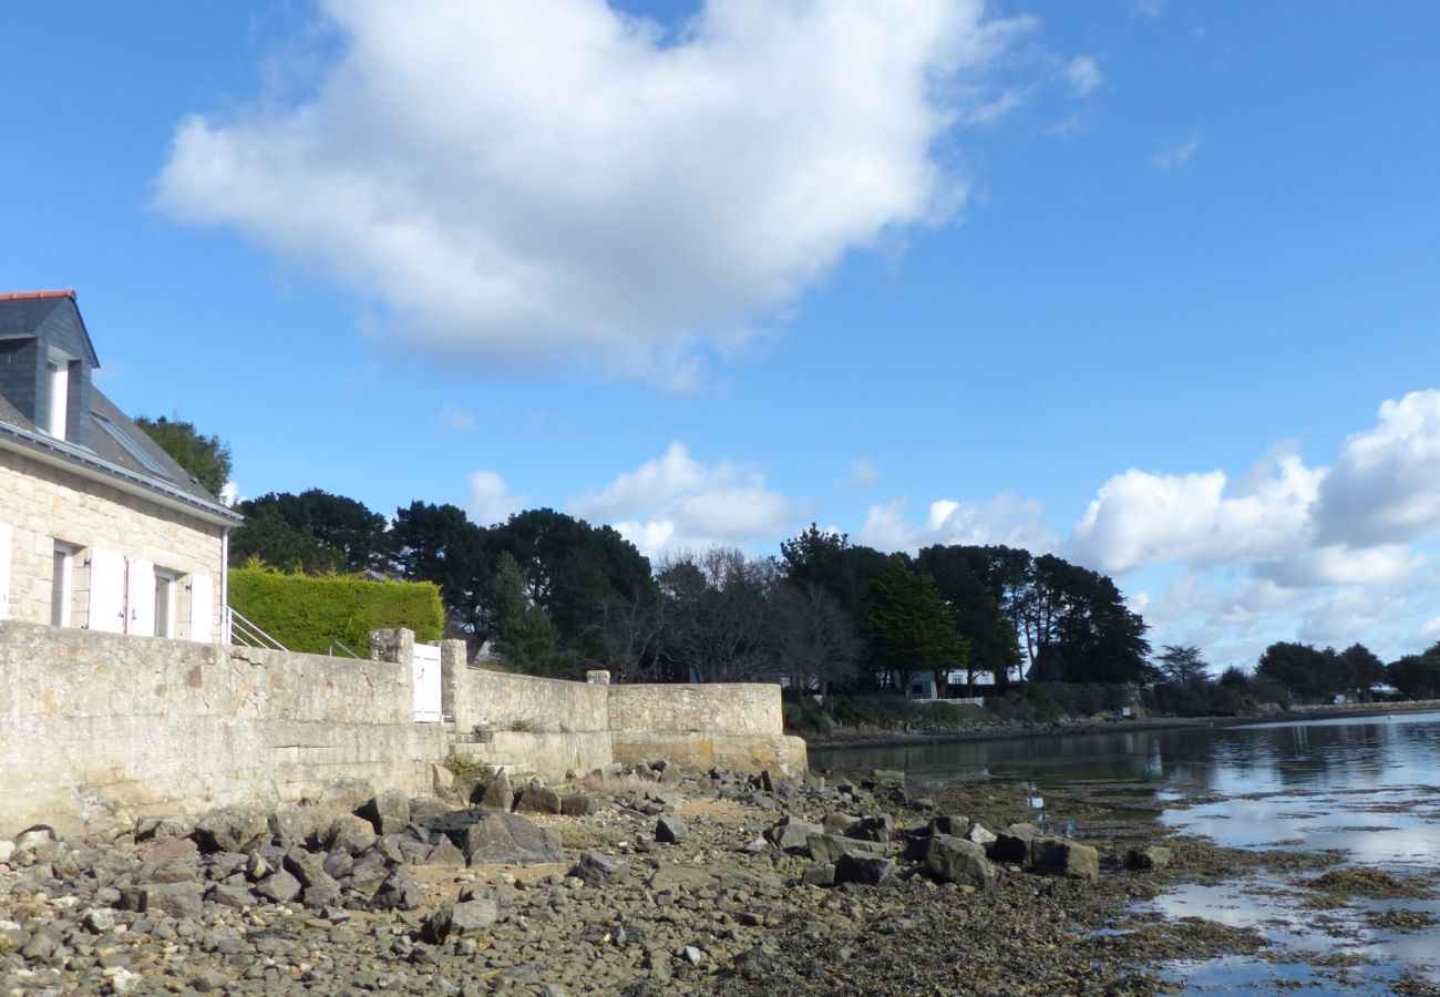
{"type": "Polygon", "coordinates": [[[445,620],[433,582],[282,575],[268,568],[232,568],[230,605],[289,650],[314,654],[340,641],[367,657],[370,631],[386,627],[409,627],[416,641],[433,641],[445,620]]]}

